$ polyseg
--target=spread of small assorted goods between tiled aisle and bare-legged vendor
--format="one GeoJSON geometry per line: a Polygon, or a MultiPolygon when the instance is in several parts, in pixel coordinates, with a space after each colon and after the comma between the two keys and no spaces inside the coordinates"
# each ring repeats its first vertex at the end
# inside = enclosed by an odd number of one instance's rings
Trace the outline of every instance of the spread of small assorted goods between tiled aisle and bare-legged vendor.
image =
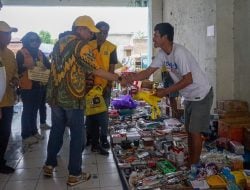
{"type": "Polygon", "coordinates": [[[137,107],[132,117],[110,120],[113,153],[126,189],[192,189],[182,124],[175,119],[137,117],[142,108],[137,107]]]}

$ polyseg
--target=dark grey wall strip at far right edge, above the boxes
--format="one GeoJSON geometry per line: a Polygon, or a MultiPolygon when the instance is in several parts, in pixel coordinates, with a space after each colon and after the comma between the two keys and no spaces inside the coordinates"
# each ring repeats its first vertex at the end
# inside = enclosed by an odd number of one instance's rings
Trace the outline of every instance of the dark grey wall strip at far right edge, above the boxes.
{"type": "Polygon", "coordinates": [[[234,97],[250,106],[250,1],[234,1],[234,97]]]}

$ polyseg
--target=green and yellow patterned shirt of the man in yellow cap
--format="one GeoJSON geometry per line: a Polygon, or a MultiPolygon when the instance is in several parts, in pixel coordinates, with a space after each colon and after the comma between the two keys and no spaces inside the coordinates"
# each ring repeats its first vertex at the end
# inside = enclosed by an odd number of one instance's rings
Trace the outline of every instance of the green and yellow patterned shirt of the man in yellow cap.
{"type": "Polygon", "coordinates": [[[65,109],[84,109],[85,77],[99,67],[93,48],[75,35],[61,38],[52,53],[51,74],[47,88],[50,105],[65,109]]]}

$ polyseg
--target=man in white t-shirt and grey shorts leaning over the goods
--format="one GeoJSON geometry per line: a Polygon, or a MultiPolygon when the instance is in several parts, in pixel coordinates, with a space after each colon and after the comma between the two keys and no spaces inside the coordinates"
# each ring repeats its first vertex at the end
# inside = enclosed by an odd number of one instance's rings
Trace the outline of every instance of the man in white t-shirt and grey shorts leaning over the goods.
{"type": "Polygon", "coordinates": [[[143,80],[157,69],[163,66],[167,68],[174,84],[168,88],[158,89],[156,95],[164,97],[179,91],[184,97],[189,164],[197,164],[202,149],[201,133],[209,132],[213,90],[193,55],[182,45],[174,43],[173,39],[174,28],[171,24],[157,24],[154,28],[153,42],[155,48],[160,48],[158,54],[146,70],[127,75],[126,80],[143,80]]]}

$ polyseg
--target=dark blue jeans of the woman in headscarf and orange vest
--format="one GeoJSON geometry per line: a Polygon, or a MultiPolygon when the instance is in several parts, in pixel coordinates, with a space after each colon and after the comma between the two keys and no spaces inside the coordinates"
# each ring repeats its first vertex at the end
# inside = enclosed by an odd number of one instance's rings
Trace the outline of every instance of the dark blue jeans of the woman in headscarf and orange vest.
{"type": "Polygon", "coordinates": [[[21,119],[22,138],[28,138],[37,133],[37,112],[42,100],[41,88],[21,90],[23,112],[21,119]]]}

